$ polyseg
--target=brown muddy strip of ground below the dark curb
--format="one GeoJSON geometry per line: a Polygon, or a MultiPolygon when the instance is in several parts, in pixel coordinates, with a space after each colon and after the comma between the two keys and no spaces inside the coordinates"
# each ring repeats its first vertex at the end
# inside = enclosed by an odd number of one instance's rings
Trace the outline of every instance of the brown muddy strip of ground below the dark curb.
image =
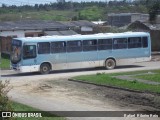
{"type": "MultiPolygon", "coordinates": [[[[39,92],[63,94],[68,98],[78,96],[79,99],[89,98],[100,100],[104,104],[128,107],[135,110],[160,110],[160,95],[151,93],[131,92],[114,88],[78,83],[68,80],[49,80],[37,86],[39,92]]],[[[34,89],[34,92],[35,91],[34,89]]]]}

